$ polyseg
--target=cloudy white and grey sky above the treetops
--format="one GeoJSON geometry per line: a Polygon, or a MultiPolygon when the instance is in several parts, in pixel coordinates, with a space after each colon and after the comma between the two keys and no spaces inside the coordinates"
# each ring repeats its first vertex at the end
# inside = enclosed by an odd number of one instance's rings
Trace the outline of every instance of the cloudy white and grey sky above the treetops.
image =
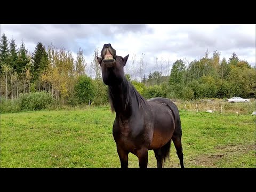
{"type": "MultiPolygon", "coordinates": [[[[28,51],[33,52],[38,42],[46,47],[51,43],[62,45],[76,53],[81,47],[87,63],[91,63],[94,50],[103,44],[111,43],[117,55],[129,61],[145,54],[147,61],[145,73],[154,70],[154,57],[158,62],[177,59],[198,60],[208,49],[210,57],[214,50],[220,52],[221,59],[227,60],[233,52],[239,59],[255,65],[255,28],[256,25],[1,25],[1,34],[14,38],[18,45],[25,43],[28,51]]],[[[127,62],[129,65],[129,62],[127,62]]]]}

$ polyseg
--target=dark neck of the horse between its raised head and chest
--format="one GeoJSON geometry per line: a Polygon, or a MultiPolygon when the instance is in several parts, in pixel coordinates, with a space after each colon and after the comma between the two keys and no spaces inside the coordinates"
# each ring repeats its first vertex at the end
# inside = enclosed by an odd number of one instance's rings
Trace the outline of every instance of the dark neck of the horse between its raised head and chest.
{"type": "MultiPolygon", "coordinates": [[[[125,79],[124,81],[127,80],[125,79]]],[[[124,82],[118,86],[110,86],[109,91],[116,116],[124,119],[129,118],[137,107],[137,105],[134,105],[133,92],[129,87],[129,83],[124,82]]]]}

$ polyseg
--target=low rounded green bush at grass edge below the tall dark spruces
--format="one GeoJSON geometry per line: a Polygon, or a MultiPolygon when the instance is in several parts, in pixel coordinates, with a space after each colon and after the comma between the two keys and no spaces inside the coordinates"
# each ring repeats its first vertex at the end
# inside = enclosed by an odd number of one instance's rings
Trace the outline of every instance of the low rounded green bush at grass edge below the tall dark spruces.
{"type": "Polygon", "coordinates": [[[40,110],[51,106],[53,97],[50,93],[45,91],[36,93],[25,93],[19,96],[21,110],[40,110]]]}

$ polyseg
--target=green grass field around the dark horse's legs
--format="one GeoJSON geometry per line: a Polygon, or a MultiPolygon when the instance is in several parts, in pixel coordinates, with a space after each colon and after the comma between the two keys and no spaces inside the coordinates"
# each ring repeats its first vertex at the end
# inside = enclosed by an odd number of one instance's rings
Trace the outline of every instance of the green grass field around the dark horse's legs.
{"type": "MultiPolygon", "coordinates": [[[[255,116],[181,110],[185,167],[256,167],[255,116]]],[[[1,167],[120,167],[109,107],[1,115],[1,167]]],[[[129,167],[138,167],[129,154],[129,167]]],[[[149,151],[148,167],[156,167],[149,151]]],[[[180,167],[171,146],[170,162],[180,167]]]]}

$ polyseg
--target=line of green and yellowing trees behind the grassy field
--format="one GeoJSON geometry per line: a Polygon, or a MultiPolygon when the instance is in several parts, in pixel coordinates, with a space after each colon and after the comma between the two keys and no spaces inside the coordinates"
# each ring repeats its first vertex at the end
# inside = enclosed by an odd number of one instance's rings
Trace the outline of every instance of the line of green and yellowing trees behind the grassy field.
{"type": "MultiPolygon", "coordinates": [[[[95,56],[85,61],[79,47],[76,58],[69,49],[38,42],[33,53],[28,53],[22,41],[17,47],[15,39],[5,34],[0,41],[0,98],[14,100],[20,95],[47,92],[58,105],[106,103],[107,86],[101,79],[101,70],[95,56]]],[[[176,99],[255,98],[255,66],[251,67],[233,52],[221,59],[218,51],[209,57],[188,62],[186,59],[154,58],[154,71],[146,76],[148,63],[145,54],[134,54],[125,66],[126,78],[145,98],[166,97],[176,99]]]]}

